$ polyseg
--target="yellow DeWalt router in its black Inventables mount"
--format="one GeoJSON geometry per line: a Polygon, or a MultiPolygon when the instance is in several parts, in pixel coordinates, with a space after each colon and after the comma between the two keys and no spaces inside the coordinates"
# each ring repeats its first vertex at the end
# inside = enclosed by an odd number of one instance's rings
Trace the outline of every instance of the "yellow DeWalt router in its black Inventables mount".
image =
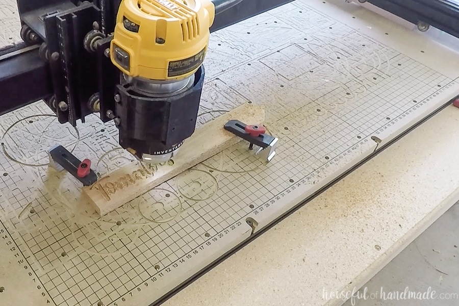
{"type": "Polygon", "coordinates": [[[119,143],[147,163],[175,156],[195,129],[215,8],[209,0],[124,0],[111,42],[122,73],[119,143]]]}

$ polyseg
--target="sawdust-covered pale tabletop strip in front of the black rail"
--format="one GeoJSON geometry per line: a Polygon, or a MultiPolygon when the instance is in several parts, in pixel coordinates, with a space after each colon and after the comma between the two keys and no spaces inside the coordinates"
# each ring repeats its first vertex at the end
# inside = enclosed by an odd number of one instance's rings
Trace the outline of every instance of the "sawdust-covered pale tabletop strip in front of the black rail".
{"type": "Polygon", "coordinates": [[[359,289],[459,200],[458,127],[450,106],[164,305],[340,305],[323,290],[359,289]]]}

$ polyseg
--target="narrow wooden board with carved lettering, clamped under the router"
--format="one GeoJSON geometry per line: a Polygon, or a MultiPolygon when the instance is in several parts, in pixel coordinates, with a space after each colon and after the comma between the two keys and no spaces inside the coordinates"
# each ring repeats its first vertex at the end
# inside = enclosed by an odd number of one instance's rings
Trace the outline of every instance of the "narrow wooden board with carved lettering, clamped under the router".
{"type": "Polygon", "coordinates": [[[159,165],[132,163],[102,177],[94,185],[84,187],[83,194],[101,216],[114,211],[124,203],[239,142],[241,138],[223,129],[223,125],[233,119],[247,124],[264,123],[264,107],[245,104],[225,113],[199,127],[185,141],[180,148],[180,154],[173,160],[159,165]]]}

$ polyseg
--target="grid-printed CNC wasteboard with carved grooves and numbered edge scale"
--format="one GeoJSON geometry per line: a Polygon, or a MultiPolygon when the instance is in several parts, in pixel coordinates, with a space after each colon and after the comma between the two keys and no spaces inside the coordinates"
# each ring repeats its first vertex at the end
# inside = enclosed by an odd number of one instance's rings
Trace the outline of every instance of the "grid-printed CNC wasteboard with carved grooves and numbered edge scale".
{"type": "MultiPolygon", "coordinates": [[[[3,45],[18,39],[15,3],[0,0],[16,27],[3,45]]],[[[280,138],[269,164],[241,142],[98,217],[47,149],[108,173],[133,160],[114,125],[60,125],[40,102],[0,117],[0,304],[155,303],[459,93],[457,55],[333,3],[297,0],[212,35],[199,124],[265,105],[280,138]]]]}

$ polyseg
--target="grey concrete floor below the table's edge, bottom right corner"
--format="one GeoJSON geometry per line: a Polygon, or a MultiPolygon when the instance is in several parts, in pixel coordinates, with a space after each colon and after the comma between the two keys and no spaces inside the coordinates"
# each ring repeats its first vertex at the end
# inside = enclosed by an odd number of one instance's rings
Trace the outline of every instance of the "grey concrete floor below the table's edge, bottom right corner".
{"type": "MultiPolygon", "coordinates": [[[[459,305],[459,202],[376,274],[345,306],[459,305]],[[395,299],[396,292],[436,291],[435,299],[395,299]],[[363,299],[367,288],[367,299],[363,299]],[[381,298],[381,288],[386,299],[381,298]],[[371,293],[375,293],[371,296],[371,293]],[[393,299],[390,299],[392,292],[393,299]],[[360,298],[359,298],[360,297],[360,298]]],[[[426,294],[427,295],[427,294],[426,294]]],[[[429,294],[429,297],[432,295],[429,294]]]]}

